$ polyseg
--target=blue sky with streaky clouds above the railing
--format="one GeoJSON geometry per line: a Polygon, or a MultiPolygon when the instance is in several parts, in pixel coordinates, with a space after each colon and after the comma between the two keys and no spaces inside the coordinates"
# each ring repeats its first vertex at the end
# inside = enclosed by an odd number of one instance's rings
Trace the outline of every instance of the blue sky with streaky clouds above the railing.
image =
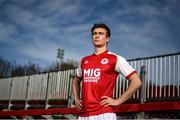
{"type": "Polygon", "coordinates": [[[0,0],[0,57],[45,67],[92,54],[91,27],[111,29],[126,59],[180,52],[180,0],[0,0]]]}

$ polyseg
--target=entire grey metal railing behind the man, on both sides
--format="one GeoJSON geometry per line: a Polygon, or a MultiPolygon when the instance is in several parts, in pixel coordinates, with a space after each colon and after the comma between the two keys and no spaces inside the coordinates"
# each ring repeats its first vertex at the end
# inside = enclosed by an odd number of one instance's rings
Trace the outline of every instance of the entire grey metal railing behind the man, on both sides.
{"type": "MultiPolygon", "coordinates": [[[[132,100],[180,99],[180,53],[128,60],[139,73],[143,86],[132,100]]],[[[44,101],[44,107],[51,107],[50,100],[72,99],[72,79],[76,69],[41,73],[22,77],[0,79],[0,101],[24,101],[25,109],[29,101],[44,101]]],[[[113,96],[117,98],[127,89],[129,81],[118,76],[113,96]]],[[[1,104],[1,103],[0,103],[1,104]]]]}

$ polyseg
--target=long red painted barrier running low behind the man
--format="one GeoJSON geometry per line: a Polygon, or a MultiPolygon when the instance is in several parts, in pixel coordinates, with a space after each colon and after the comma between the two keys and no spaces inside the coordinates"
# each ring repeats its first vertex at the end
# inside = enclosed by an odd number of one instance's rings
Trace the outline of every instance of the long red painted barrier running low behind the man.
{"type": "MultiPolygon", "coordinates": [[[[115,112],[143,112],[161,110],[180,110],[180,101],[149,102],[144,104],[122,104],[114,108],[115,112]]],[[[78,114],[75,108],[51,108],[34,110],[9,110],[0,111],[0,116],[33,116],[33,115],[55,115],[55,114],[78,114]]]]}

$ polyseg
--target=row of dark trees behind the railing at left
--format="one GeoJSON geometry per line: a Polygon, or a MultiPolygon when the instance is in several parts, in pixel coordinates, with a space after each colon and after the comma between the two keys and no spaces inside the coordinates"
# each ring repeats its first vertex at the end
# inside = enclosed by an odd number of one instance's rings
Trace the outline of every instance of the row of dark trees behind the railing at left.
{"type": "Polygon", "coordinates": [[[77,66],[77,61],[68,59],[61,64],[54,62],[49,67],[42,69],[39,65],[31,62],[25,65],[16,65],[0,57],[0,78],[31,75],[48,71],[74,69],[77,66]]]}

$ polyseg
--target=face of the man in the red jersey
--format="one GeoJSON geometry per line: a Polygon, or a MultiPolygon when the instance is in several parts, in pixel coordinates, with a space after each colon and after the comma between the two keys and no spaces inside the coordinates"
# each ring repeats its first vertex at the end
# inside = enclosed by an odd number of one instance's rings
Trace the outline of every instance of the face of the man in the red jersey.
{"type": "Polygon", "coordinates": [[[109,37],[107,37],[107,32],[104,28],[96,28],[92,33],[93,45],[97,47],[106,46],[109,37]]]}

